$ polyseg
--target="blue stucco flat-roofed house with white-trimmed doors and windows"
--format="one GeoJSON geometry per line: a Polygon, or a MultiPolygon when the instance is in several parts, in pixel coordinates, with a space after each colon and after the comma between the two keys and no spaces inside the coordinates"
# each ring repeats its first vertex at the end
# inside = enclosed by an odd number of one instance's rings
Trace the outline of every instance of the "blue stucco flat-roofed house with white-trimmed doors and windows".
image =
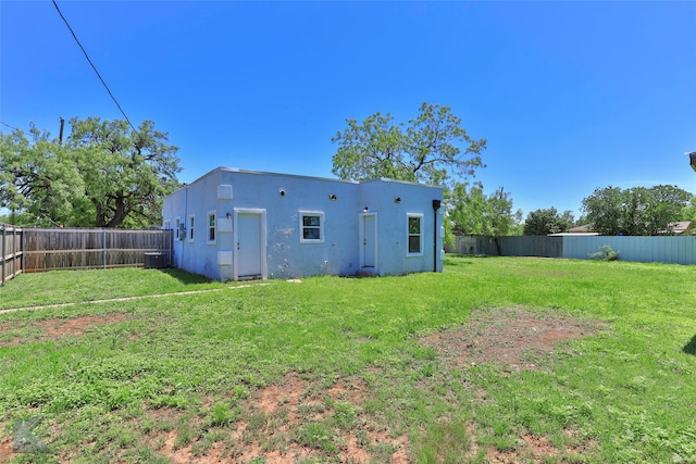
{"type": "Polygon", "coordinates": [[[176,267],[216,280],[443,269],[442,187],[217,167],[164,199],[176,267]]]}

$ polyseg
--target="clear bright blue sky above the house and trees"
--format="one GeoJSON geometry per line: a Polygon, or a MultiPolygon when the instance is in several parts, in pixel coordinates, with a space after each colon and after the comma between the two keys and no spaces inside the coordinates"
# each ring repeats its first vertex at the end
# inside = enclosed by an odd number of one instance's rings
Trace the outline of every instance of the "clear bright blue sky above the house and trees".
{"type": "MultiPolygon", "coordinates": [[[[595,188],[696,192],[696,2],[57,0],[128,118],[217,166],[334,177],[346,118],[424,101],[486,138],[486,192],[579,214],[595,188]]],[[[51,1],[0,1],[0,121],[122,118],[51,1]]],[[[9,131],[8,126],[2,130],[9,131]]]]}

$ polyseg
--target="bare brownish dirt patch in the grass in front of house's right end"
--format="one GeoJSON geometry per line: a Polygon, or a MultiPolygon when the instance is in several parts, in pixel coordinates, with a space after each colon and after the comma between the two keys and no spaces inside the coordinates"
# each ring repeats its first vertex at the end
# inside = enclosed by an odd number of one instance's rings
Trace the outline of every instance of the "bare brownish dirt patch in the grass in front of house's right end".
{"type": "Polygon", "coordinates": [[[465,326],[438,331],[423,342],[452,367],[493,362],[507,371],[536,369],[534,359],[554,354],[557,343],[605,328],[598,321],[508,308],[474,313],[465,326]]]}

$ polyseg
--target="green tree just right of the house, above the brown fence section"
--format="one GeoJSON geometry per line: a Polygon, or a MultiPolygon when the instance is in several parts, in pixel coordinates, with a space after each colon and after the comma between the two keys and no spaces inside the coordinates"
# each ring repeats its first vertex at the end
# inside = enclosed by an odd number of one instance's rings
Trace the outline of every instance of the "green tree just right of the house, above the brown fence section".
{"type": "Polygon", "coordinates": [[[447,217],[455,235],[512,235],[522,212],[512,212],[512,198],[502,187],[486,196],[476,183],[457,184],[447,195],[447,217]]]}

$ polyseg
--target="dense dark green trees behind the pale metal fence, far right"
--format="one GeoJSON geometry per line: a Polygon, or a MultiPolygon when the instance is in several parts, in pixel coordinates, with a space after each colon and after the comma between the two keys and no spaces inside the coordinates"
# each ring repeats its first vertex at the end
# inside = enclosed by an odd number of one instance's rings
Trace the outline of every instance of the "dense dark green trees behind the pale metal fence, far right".
{"type": "Polygon", "coordinates": [[[684,218],[693,195],[675,186],[597,188],[583,200],[592,228],[602,235],[654,236],[671,233],[671,223],[684,218]]]}

